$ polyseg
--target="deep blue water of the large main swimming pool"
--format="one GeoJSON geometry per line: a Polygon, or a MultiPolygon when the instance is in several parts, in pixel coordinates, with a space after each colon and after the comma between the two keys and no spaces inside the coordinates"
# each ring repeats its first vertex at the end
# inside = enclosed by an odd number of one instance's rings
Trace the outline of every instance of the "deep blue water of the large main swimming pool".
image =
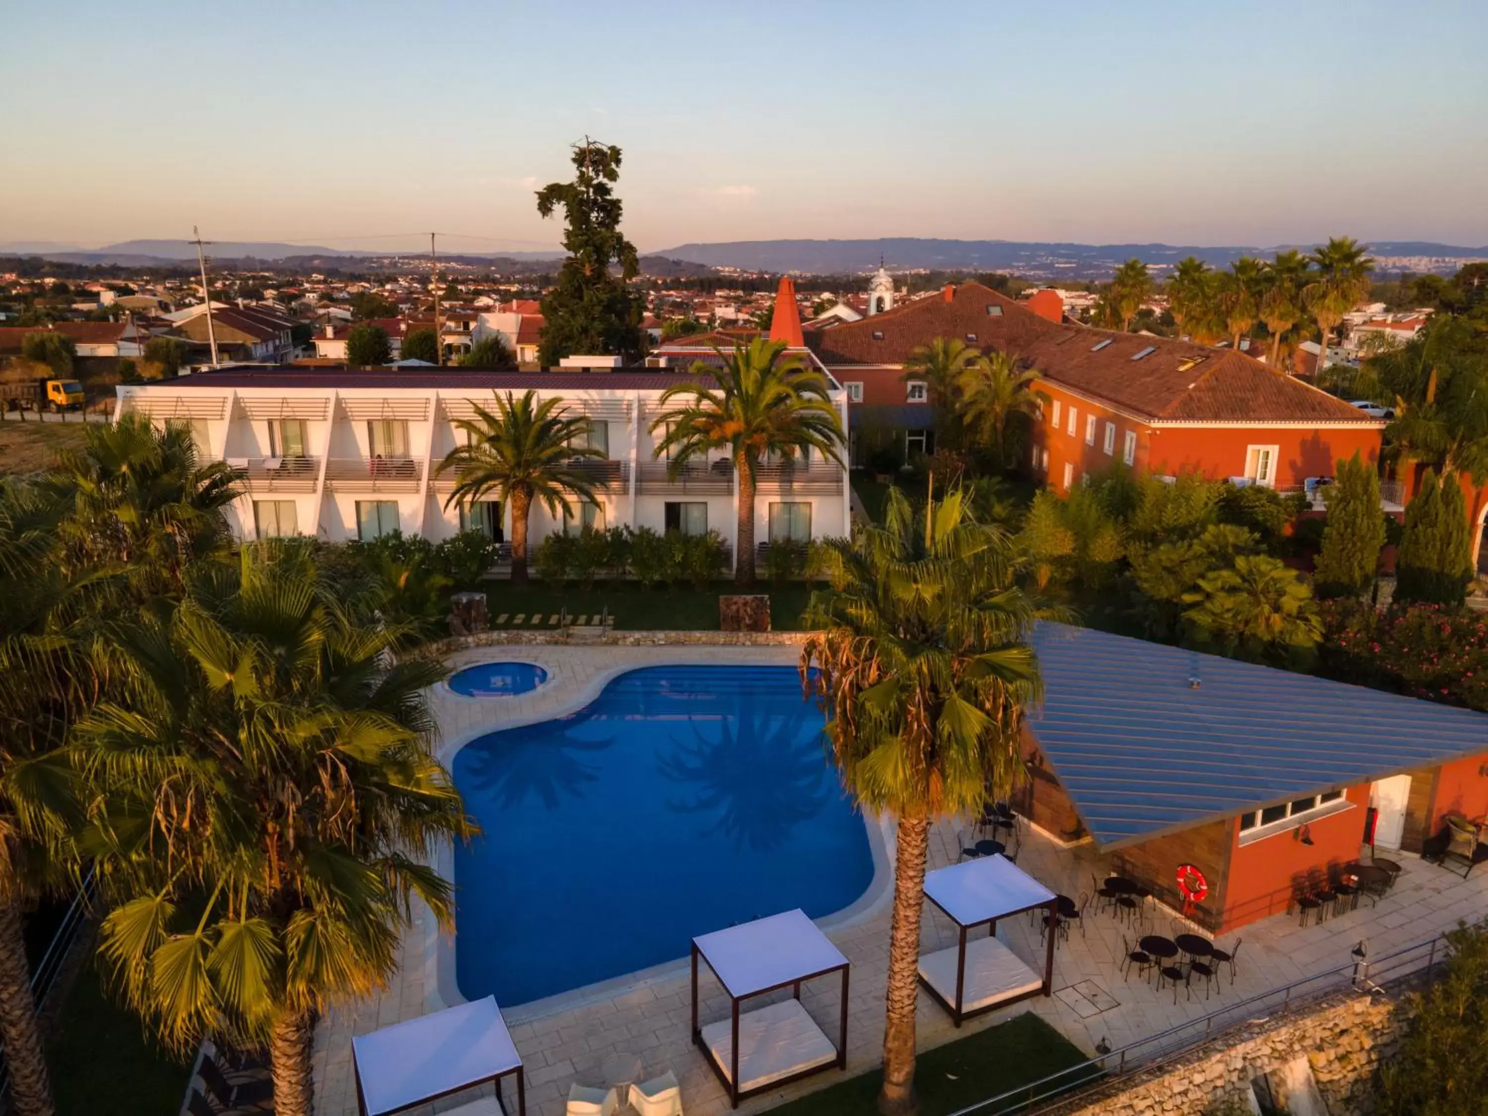
{"type": "Polygon", "coordinates": [[[454,759],[455,966],[503,1006],[687,955],[693,936],[853,903],[873,876],[790,667],[653,667],[454,759]]]}

